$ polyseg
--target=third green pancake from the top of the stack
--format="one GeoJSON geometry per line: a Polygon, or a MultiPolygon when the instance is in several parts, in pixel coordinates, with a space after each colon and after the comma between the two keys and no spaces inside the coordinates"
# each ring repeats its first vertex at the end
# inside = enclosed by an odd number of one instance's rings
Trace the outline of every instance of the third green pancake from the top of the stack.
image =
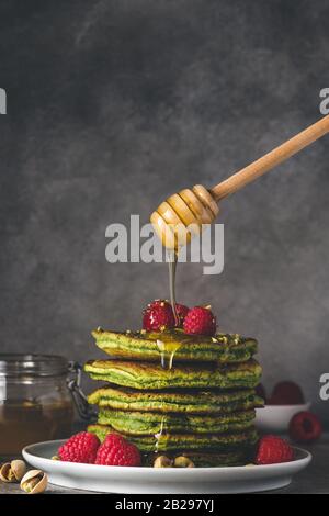
{"type": "Polygon", "coordinates": [[[186,414],[229,414],[263,406],[252,389],[240,391],[136,391],[105,386],[88,396],[91,405],[122,411],[147,411],[186,414]]]}

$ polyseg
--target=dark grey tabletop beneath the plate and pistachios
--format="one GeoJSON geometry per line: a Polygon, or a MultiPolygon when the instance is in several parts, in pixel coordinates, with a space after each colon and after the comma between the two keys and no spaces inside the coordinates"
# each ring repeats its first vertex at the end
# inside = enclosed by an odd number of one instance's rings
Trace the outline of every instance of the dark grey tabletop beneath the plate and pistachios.
{"type": "MultiPolygon", "coordinates": [[[[320,442],[305,447],[313,453],[309,467],[295,476],[291,485],[273,491],[280,494],[329,494],[329,434],[320,442]]],[[[89,491],[69,490],[49,485],[47,494],[89,494],[89,491]]],[[[22,494],[18,484],[0,482],[0,494],[22,494]]]]}

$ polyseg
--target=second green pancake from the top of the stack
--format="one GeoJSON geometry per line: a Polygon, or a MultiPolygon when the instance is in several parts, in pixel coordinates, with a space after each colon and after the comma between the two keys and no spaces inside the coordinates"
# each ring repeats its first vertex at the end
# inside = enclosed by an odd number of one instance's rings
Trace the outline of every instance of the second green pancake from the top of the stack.
{"type": "Polygon", "coordinates": [[[134,389],[253,389],[260,381],[261,367],[248,362],[217,364],[180,364],[163,369],[160,364],[122,360],[91,360],[84,371],[94,380],[103,380],[134,389]]]}

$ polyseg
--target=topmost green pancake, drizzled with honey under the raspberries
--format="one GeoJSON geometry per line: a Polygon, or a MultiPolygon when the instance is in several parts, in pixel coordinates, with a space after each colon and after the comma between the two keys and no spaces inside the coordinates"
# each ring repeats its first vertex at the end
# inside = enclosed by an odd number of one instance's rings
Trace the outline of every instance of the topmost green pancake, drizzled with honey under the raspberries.
{"type": "Polygon", "coordinates": [[[161,333],[92,332],[97,346],[106,354],[123,359],[162,361],[243,362],[257,352],[257,340],[239,335],[218,334],[215,337],[185,335],[172,329],[161,333]]]}

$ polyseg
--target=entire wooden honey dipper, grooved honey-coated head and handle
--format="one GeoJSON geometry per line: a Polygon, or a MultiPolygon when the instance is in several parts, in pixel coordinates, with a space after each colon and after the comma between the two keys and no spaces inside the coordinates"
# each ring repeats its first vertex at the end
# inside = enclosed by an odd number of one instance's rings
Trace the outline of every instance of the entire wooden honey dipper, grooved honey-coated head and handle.
{"type": "Polygon", "coordinates": [[[294,154],[297,154],[328,132],[329,115],[234,173],[216,187],[208,190],[202,184],[195,184],[192,189],[184,189],[170,195],[150,217],[162,244],[174,250],[186,244],[193,234],[202,231],[202,224],[211,224],[216,218],[219,212],[217,205],[219,201],[272,170],[276,165],[294,156],[294,154]],[[186,229],[188,226],[190,226],[189,231],[186,229]]]}

